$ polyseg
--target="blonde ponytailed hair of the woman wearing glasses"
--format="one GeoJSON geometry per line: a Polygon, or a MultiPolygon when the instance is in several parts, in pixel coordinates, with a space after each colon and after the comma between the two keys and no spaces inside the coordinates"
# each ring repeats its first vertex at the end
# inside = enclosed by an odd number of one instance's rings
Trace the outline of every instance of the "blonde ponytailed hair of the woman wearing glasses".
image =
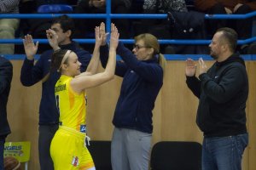
{"type": "Polygon", "coordinates": [[[158,63],[160,66],[165,70],[166,67],[166,58],[163,54],[160,54],[160,44],[156,37],[154,37],[152,34],[144,33],[140,34],[137,37],[134,38],[135,41],[143,40],[145,47],[148,48],[154,48],[154,54],[158,55],[158,63]]]}

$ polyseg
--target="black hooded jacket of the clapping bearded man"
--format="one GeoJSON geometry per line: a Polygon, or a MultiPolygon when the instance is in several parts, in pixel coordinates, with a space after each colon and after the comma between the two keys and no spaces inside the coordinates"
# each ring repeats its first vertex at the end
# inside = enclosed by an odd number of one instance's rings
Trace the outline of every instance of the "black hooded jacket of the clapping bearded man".
{"type": "Polygon", "coordinates": [[[200,99],[196,123],[205,136],[247,133],[248,79],[241,57],[233,54],[214,63],[199,79],[187,77],[187,85],[200,99]]]}

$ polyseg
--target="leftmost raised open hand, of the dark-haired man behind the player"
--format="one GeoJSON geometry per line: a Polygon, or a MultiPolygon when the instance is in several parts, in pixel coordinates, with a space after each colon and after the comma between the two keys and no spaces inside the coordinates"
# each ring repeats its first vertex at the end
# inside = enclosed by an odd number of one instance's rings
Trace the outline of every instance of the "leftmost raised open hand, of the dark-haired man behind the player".
{"type": "Polygon", "coordinates": [[[23,39],[24,50],[27,59],[34,59],[38,51],[38,42],[34,43],[31,35],[27,34],[23,39]]]}

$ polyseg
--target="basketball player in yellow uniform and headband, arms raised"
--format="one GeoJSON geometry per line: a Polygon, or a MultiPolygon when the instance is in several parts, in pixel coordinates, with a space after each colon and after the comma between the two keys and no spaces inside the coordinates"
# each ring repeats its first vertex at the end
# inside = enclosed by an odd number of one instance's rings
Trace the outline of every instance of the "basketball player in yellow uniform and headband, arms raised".
{"type": "Polygon", "coordinates": [[[52,69],[61,72],[55,84],[56,105],[60,111],[60,127],[50,146],[50,154],[55,170],[95,170],[94,162],[86,148],[86,94],[84,90],[101,85],[113,79],[116,48],[119,32],[112,24],[109,59],[106,70],[96,73],[100,59],[100,46],[106,35],[100,34],[105,25],[96,27],[96,44],[90,64],[84,73],[80,73],[81,63],[71,50],[58,50],[52,56],[52,69]]]}

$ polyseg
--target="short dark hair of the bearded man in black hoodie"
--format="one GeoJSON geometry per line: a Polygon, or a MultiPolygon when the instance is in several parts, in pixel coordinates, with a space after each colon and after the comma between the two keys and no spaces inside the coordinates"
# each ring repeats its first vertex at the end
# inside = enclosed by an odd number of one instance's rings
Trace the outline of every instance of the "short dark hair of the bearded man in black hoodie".
{"type": "Polygon", "coordinates": [[[222,36],[221,38],[224,39],[224,41],[226,41],[229,46],[230,46],[230,50],[232,52],[236,51],[236,45],[237,45],[237,33],[235,30],[233,30],[232,28],[228,28],[228,27],[224,27],[224,28],[219,28],[217,30],[217,32],[222,32],[222,36]]]}

